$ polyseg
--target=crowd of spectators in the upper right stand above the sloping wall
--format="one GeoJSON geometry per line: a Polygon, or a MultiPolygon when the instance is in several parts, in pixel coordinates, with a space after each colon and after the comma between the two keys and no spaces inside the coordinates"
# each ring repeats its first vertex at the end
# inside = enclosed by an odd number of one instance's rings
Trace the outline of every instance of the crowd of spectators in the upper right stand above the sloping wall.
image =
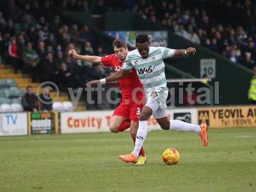
{"type": "Polygon", "coordinates": [[[250,0],[214,1],[207,9],[205,1],[197,2],[162,1],[159,6],[154,1],[142,0],[137,12],[230,61],[252,68],[256,61],[256,4],[250,0]]]}

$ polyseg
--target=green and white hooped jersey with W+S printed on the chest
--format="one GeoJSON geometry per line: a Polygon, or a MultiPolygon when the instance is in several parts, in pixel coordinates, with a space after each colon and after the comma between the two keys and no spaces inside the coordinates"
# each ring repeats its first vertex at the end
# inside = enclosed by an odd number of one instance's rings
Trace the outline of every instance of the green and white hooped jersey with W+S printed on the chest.
{"type": "Polygon", "coordinates": [[[137,75],[148,92],[153,88],[166,88],[164,59],[174,56],[175,49],[167,47],[150,47],[147,58],[142,58],[135,49],[125,58],[123,70],[135,68],[137,75]]]}

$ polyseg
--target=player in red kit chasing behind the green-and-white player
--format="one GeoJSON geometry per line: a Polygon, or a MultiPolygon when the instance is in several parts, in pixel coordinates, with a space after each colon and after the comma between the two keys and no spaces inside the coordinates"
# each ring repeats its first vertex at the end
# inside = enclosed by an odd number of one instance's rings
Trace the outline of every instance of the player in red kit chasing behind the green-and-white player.
{"type": "MultiPolygon", "coordinates": [[[[76,60],[88,61],[95,65],[113,67],[117,72],[122,68],[123,61],[128,53],[128,48],[125,42],[116,39],[113,42],[113,49],[115,54],[109,54],[104,57],[82,56],[77,54],[74,50],[70,50],[68,54],[76,60]]],[[[124,79],[118,80],[118,83],[122,93],[122,100],[111,117],[109,129],[111,132],[122,132],[130,127],[132,140],[135,143],[139,121],[138,113],[140,113],[140,110],[143,108],[143,103],[141,102],[143,100],[143,86],[135,70],[132,70],[131,74],[124,79]],[[136,93],[136,95],[133,96],[135,99],[132,97],[132,93],[136,93]]],[[[137,164],[144,164],[145,161],[146,156],[143,148],[141,148],[137,164]]]]}

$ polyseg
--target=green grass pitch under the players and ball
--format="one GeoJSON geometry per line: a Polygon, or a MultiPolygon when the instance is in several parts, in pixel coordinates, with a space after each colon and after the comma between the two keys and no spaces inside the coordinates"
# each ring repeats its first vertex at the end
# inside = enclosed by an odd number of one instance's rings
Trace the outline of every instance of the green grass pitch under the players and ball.
{"type": "Polygon", "coordinates": [[[209,147],[195,133],[154,131],[145,165],[119,154],[129,133],[0,138],[0,191],[256,191],[256,128],[211,129],[209,147]],[[163,163],[164,149],[180,163],[163,163]]]}

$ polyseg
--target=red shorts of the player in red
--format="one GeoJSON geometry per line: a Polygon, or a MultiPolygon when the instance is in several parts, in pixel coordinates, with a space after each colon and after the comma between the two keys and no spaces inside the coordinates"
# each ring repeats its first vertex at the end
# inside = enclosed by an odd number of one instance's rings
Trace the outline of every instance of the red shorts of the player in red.
{"type": "Polygon", "coordinates": [[[126,103],[122,100],[120,102],[118,108],[115,109],[113,116],[124,116],[127,119],[131,119],[134,122],[139,122],[139,116],[141,109],[143,108],[143,103],[134,103],[130,101],[129,103],[126,103]]]}

